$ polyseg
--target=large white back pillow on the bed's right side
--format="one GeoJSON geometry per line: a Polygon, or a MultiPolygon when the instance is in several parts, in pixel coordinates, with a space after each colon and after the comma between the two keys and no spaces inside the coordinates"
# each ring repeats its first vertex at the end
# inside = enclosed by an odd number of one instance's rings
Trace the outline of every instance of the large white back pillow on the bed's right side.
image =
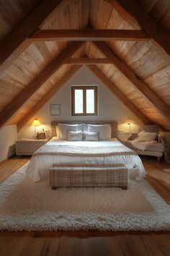
{"type": "Polygon", "coordinates": [[[111,139],[111,125],[110,124],[89,124],[88,132],[99,132],[99,140],[111,139]]]}

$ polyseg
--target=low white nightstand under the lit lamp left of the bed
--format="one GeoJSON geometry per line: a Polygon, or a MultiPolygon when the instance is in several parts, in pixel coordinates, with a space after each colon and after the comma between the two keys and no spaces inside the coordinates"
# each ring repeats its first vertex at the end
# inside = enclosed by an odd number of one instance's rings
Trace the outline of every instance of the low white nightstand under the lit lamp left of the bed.
{"type": "Polygon", "coordinates": [[[16,155],[32,155],[38,148],[48,142],[49,139],[21,139],[16,141],[16,155]]]}

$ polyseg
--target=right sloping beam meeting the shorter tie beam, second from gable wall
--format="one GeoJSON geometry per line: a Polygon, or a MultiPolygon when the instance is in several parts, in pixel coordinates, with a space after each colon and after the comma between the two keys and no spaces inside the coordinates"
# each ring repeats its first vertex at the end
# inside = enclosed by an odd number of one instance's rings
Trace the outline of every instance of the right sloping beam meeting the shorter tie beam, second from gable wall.
{"type": "Polygon", "coordinates": [[[114,54],[112,49],[109,48],[106,43],[96,41],[93,42],[93,44],[102,54],[107,56],[107,58],[112,59],[112,64],[114,64],[118,72],[120,72],[122,76],[125,77],[131,85],[133,85],[133,88],[138,90],[138,92],[143,95],[143,97],[146,98],[146,100],[151,103],[161,115],[170,120],[169,106],[167,106],[166,103],[164,103],[164,101],[162,101],[161,98],[159,98],[158,95],[156,95],[156,93],[154,93],[153,90],[151,90],[151,88],[149,88],[149,86],[143,82],[143,80],[141,80],[140,77],[138,77],[135,72],[125,64],[125,62],[122,61],[122,59],[114,54]]]}

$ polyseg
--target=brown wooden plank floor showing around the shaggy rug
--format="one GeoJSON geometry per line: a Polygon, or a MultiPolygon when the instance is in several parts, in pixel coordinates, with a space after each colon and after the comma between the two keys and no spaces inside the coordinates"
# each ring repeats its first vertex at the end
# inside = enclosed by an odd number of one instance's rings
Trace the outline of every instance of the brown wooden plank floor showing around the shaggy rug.
{"type": "MultiPolygon", "coordinates": [[[[0,163],[0,182],[29,158],[12,158],[0,163]]],[[[162,171],[168,163],[143,158],[147,179],[169,202],[170,174],[162,171]]],[[[170,203],[170,202],[169,202],[170,203]]],[[[170,232],[0,232],[0,256],[170,256],[170,232]]]]}

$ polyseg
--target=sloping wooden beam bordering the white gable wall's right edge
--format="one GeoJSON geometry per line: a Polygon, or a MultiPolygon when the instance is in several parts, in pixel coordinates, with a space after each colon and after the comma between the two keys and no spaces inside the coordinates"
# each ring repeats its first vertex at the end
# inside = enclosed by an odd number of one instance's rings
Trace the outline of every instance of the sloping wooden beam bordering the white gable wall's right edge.
{"type": "Polygon", "coordinates": [[[138,119],[140,119],[140,121],[143,122],[143,124],[151,124],[151,121],[146,116],[144,116],[142,112],[140,112],[139,108],[137,108],[132,102],[130,102],[128,98],[112,82],[110,82],[110,80],[104,74],[102,74],[102,72],[97,67],[95,67],[94,65],[86,65],[86,67],[88,67],[91,70],[91,72],[93,72],[99,78],[99,80],[101,80],[104,83],[104,85],[106,85],[107,88],[127,108],[129,108],[130,111],[132,111],[133,114],[135,114],[135,116],[137,116],[138,119]]]}

